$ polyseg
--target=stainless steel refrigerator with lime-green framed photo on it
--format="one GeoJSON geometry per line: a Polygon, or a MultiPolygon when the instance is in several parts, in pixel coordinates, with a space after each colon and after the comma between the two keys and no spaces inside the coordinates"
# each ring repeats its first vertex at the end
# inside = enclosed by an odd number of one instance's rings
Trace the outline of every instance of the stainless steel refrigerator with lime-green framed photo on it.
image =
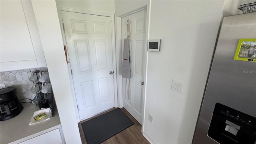
{"type": "Polygon", "coordinates": [[[256,12],[223,18],[192,144],[256,144],[256,58],[234,60],[249,38],[256,12]]]}

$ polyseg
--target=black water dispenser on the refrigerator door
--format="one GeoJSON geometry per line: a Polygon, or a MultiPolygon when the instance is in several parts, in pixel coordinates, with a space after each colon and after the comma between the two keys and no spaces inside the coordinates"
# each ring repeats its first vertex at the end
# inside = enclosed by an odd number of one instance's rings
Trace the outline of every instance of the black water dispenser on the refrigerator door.
{"type": "Polygon", "coordinates": [[[219,144],[254,144],[256,118],[216,103],[207,135],[219,144]]]}

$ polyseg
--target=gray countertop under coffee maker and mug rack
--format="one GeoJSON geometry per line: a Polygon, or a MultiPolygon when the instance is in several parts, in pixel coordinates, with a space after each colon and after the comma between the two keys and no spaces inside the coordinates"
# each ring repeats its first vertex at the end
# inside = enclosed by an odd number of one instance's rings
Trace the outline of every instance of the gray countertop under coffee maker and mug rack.
{"type": "Polygon", "coordinates": [[[18,116],[0,121],[0,144],[20,143],[61,127],[57,109],[50,120],[29,125],[34,112],[40,109],[32,103],[22,105],[24,108],[18,116]]]}

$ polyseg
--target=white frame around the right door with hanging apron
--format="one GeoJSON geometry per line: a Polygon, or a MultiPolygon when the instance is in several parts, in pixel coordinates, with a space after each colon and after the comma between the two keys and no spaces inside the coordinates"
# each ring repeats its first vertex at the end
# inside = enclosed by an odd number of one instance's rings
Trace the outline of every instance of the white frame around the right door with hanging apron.
{"type": "Polygon", "coordinates": [[[146,3],[142,3],[137,7],[130,7],[124,10],[121,14],[115,16],[115,25],[116,25],[116,54],[117,54],[117,69],[118,69],[118,107],[123,107],[123,95],[122,95],[122,17],[134,14],[141,10],[147,10],[146,12],[146,34],[145,34],[145,48],[144,48],[144,86],[143,86],[143,94],[142,94],[142,128],[141,132],[144,132],[144,122],[145,122],[145,109],[146,109],[146,87],[147,87],[147,69],[148,69],[148,51],[147,51],[147,42],[149,38],[149,18],[150,18],[150,1],[148,0],[146,3]]]}

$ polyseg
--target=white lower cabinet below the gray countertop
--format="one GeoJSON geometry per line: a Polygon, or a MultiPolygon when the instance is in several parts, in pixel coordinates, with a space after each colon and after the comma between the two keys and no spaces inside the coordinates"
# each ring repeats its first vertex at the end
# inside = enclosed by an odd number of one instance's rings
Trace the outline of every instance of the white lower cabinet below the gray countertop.
{"type": "Polygon", "coordinates": [[[20,144],[62,144],[60,129],[52,130],[20,144]]]}

